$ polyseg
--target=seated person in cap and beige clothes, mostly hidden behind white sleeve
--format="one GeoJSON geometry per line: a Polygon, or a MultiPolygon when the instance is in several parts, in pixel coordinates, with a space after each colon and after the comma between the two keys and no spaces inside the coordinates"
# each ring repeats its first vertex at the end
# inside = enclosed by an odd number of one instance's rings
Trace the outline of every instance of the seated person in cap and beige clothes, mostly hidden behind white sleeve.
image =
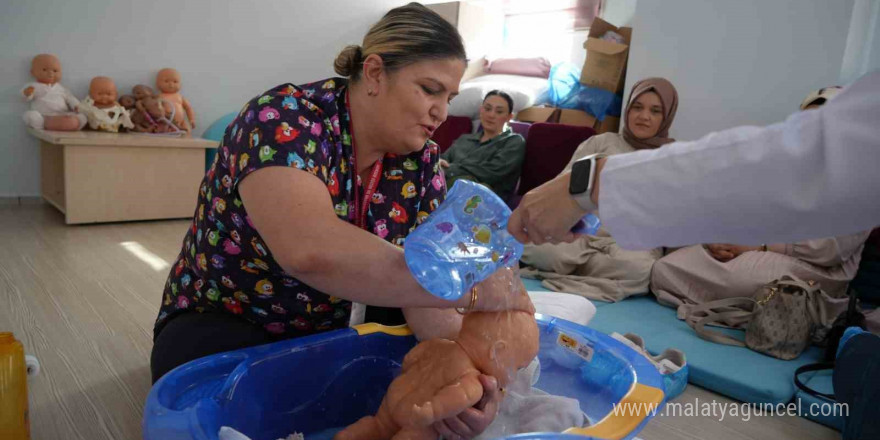
{"type": "MultiPolygon", "coordinates": [[[[801,110],[818,107],[837,91],[839,88],[829,87],[811,93],[801,104],[801,110]]],[[[743,214],[743,221],[748,221],[748,213],[743,214]]],[[[751,297],[764,284],[789,275],[817,282],[829,297],[839,298],[826,304],[831,314],[835,314],[846,307],[847,285],[858,271],[869,234],[870,231],[865,231],[761,246],[688,246],[654,264],[651,291],[660,303],[679,308],[679,316],[686,316],[693,304],[751,297]]]]}

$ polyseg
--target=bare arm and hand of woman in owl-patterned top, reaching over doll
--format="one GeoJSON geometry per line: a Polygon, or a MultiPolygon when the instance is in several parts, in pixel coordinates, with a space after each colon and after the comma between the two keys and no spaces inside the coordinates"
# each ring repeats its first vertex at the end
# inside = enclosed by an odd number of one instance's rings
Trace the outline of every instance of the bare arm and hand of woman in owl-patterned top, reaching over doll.
{"type": "MultiPolygon", "coordinates": [[[[448,308],[470,303],[469,295],[453,303],[422,289],[410,275],[403,251],[339,220],[327,187],[305,171],[262,168],[247,175],[238,189],[248,216],[278,264],[315,289],[381,307],[448,308]]],[[[476,309],[534,311],[528,295],[499,287],[512,285],[513,277],[511,271],[502,270],[480,283],[476,309]]]]}

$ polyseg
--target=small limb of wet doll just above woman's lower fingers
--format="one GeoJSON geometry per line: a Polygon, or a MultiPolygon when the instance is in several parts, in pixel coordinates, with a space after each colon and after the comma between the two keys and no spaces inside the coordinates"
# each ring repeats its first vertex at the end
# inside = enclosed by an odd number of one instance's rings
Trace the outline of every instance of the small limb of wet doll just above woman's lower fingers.
{"type": "Polygon", "coordinates": [[[412,408],[412,424],[425,425],[457,415],[474,406],[483,397],[478,375],[468,374],[440,389],[434,397],[412,408]]]}

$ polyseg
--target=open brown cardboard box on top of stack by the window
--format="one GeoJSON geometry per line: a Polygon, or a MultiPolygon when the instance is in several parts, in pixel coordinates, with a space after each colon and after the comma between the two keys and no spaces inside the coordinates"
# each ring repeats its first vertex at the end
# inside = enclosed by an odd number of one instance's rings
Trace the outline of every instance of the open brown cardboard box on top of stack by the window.
{"type": "Polygon", "coordinates": [[[581,71],[581,83],[622,93],[631,38],[632,28],[618,28],[601,18],[595,18],[590,25],[587,41],[584,42],[587,60],[584,61],[584,68],[581,71]],[[600,39],[608,31],[620,34],[625,44],[600,39]]]}

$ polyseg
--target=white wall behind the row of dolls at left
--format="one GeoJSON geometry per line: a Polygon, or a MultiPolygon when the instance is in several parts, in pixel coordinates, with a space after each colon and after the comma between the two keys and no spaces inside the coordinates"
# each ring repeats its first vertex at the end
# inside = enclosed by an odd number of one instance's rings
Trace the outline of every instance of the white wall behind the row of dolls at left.
{"type": "Polygon", "coordinates": [[[3,0],[0,2],[0,197],[39,194],[39,144],[25,131],[19,95],[30,60],[57,54],[62,83],[80,98],[93,76],[120,92],[154,84],[166,66],[183,75],[196,135],[249,98],[283,82],[334,75],[346,44],[405,0],[3,0]]]}

